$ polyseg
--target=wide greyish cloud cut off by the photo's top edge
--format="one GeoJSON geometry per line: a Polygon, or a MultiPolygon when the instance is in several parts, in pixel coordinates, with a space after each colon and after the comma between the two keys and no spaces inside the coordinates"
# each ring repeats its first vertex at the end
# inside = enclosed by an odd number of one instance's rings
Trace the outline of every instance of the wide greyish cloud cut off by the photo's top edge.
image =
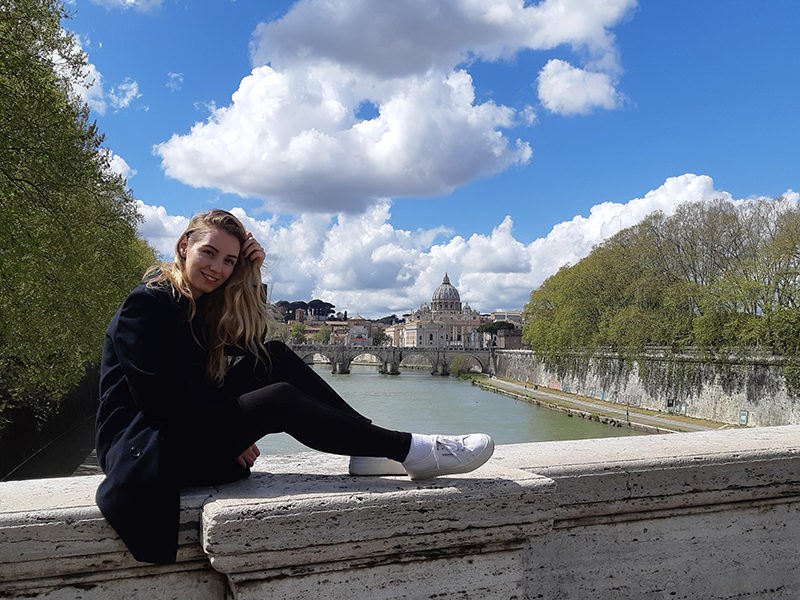
{"type": "Polygon", "coordinates": [[[257,27],[251,56],[254,65],[331,62],[380,79],[562,44],[612,64],[608,29],[635,7],[635,0],[301,0],[282,19],[257,27]]]}

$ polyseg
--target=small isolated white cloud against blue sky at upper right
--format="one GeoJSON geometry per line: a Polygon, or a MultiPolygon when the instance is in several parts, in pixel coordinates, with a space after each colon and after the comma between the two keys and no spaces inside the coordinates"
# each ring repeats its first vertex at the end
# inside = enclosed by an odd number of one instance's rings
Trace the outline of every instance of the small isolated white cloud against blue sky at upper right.
{"type": "Polygon", "coordinates": [[[539,73],[539,100],[552,113],[588,115],[596,107],[612,110],[624,98],[606,73],[592,73],[553,59],[539,73]]]}

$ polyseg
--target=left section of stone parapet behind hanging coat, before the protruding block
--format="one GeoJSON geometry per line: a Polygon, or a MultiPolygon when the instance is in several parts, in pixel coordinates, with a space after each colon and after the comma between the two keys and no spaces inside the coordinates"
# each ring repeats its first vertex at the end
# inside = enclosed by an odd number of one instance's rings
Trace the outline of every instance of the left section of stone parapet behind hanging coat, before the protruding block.
{"type": "Polygon", "coordinates": [[[202,505],[213,490],[184,492],[179,562],[163,568],[143,565],[127,552],[95,504],[100,481],[102,476],[0,483],[0,597],[180,598],[187,596],[169,594],[198,585],[190,597],[224,597],[225,579],[198,543],[202,505]]]}

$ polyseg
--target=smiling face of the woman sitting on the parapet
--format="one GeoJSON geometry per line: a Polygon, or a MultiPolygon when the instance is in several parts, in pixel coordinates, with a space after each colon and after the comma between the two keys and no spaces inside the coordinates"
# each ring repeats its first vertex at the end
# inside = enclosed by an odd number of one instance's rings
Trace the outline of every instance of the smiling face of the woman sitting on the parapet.
{"type": "Polygon", "coordinates": [[[178,251],[186,259],[185,276],[195,299],[224,284],[239,261],[242,245],[221,229],[198,232],[191,241],[184,237],[178,251]]]}

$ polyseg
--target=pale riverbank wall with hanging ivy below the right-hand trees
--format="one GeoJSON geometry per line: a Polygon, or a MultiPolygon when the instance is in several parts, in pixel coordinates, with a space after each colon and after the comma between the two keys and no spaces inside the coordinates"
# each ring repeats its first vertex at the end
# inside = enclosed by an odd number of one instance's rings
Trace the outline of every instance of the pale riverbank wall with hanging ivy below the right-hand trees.
{"type": "Polygon", "coordinates": [[[574,357],[549,367],[530,350],[497,350],[495,372],[530,385],[606,402],[747,426],[800,424],[800,399],[786,390],[780,364],[758,357],[710,363],[696,356],[624,361],[574,357]]]}

